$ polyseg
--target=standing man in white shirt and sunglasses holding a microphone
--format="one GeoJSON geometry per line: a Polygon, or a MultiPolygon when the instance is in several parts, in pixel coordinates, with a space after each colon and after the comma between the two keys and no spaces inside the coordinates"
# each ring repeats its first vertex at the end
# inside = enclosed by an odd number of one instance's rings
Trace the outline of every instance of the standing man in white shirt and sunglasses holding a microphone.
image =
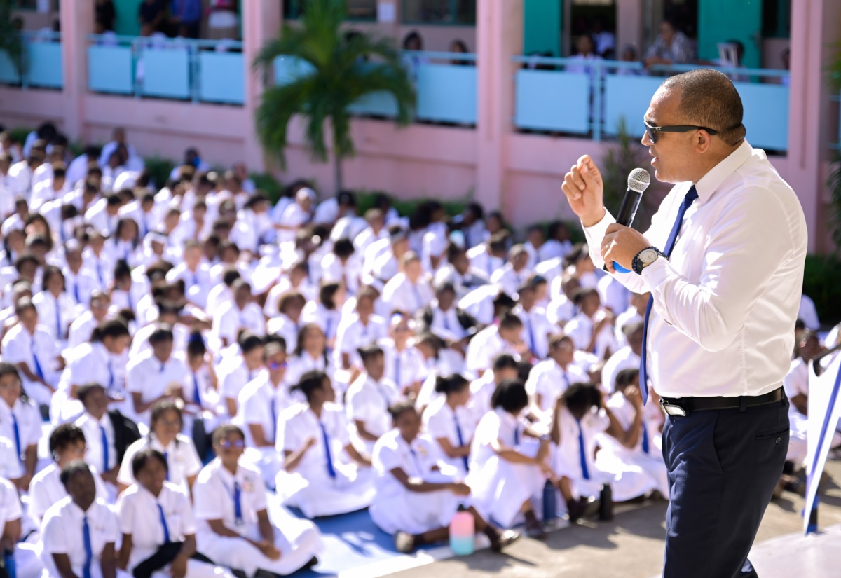
{"type": "Polygon", "coordinates": [[[748,552],[788,449],[791,365],[807,253],[795,192],[745,137],[733,82],[671,76],[645,114],[643,145],[674,183],[645,234],[614,223],[584,155],[563,192],[596,267],[650,291],[640,389],[668,414],[672,505],[664,577],[756,575],[748,552]],[[629,273],[616,273],[613,262],[629,273]],[[650,352],[650,354],[649,354],[650,352]]]}

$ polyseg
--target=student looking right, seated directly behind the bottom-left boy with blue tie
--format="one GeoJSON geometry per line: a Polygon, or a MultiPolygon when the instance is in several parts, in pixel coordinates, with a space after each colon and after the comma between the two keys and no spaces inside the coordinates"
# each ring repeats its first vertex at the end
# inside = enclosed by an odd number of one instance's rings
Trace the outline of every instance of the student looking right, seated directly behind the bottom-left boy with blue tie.
{"type": "MultiPolygon", "coordinates": [[[[62,423],[50,434],[50,456],[53,463],[40,470],[29,484],[29,516],[40,523],[44,514],[67,496],[64,484],[61,483],[61,470],[68,464],[85,458],[85,434],[81,428],[72,423],[62,423]]],[[[91,465],[91,464],[89,464],[91,465]]],[[[108,491],[95,465],[91,465],[93,481],[97,486],[97,497],[108,502],[108,491]]],[[[116,492],[114,492],[116,495],[116,492]]],[[[113,502],[113,500],[112,500],[113,502]]]]}

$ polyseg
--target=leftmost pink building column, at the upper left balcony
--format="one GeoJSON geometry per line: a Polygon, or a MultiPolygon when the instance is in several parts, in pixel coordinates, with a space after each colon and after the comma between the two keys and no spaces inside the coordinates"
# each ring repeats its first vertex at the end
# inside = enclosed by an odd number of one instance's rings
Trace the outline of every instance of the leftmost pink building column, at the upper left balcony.
{"type": "Polygon", "coordinates": [[[64,117],[64,133],[73,141],[84,139],[87,34],[93,34],[93,2],[62,2],[59,20],[63,79],[61,114],[64,117]]]}

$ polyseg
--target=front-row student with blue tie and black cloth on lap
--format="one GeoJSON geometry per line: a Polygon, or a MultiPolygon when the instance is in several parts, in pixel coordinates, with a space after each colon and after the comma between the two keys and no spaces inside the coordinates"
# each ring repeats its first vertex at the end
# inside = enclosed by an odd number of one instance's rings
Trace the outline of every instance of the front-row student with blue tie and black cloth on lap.
{"type": "Polygon", "coordinates": [[[156,449],[143,449],[132,458],[137,481],[117,502],[123,534],[117,567],[156,578],[233,578],[227,570],[193,559],[193,505],[181,487],[166,481],[167,468],[167,459],[156,449]]]}

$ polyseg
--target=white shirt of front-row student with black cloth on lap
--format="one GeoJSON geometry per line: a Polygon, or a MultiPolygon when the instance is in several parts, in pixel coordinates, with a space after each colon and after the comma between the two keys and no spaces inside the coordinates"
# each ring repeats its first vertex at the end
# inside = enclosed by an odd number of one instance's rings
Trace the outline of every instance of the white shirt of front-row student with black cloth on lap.
{"type": "Polygon", "coordinates": [[[165,543],[161,511],[171,542],[181,542],[196,533],[193,506],[181,487],[165,481],[161,493],[133,484],[117,500],[119,531],[131,535],[129,569],[147,560],[165,543]]]}

